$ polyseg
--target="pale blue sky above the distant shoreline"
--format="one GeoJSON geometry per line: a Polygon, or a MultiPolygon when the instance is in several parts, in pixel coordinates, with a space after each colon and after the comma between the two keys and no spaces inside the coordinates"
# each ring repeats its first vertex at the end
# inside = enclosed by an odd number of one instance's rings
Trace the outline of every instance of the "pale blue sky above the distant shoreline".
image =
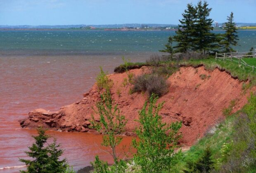
{"type": "MultiPolygon", "coordinates": [[[[187,3],[198,0],[0,0],[0,25],[178,24],[187,3]]],[[[219,23],[256,23],[256,0],[208,0],[219,23]]]]}

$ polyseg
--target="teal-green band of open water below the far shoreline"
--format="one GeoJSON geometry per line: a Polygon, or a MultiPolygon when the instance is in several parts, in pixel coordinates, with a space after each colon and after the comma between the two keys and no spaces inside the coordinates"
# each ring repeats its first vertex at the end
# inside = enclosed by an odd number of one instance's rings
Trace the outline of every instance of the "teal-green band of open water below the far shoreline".
{"type": "MultiPolygon", "coordinates": [[[[222,31],[214,31],[221,33],[222,31]]],[[[1,30],[0,54],[157,52],[175,31],[1,30]]],[[[256,31],[239,31],[238,51],[256,48],[256,31]]]]}

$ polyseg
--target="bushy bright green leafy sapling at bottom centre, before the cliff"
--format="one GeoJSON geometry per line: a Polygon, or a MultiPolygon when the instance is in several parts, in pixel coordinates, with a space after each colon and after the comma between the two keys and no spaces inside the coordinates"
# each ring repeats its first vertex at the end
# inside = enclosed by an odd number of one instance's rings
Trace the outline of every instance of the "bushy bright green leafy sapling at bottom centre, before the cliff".
{"type": "Polygon", "coordinates": [[[164,103],[156,105],[157,99],[152,94],[149,103],[146,102],[140,110],[140,126],[135,130],[138,140],[133,140],[133,147],[137,150],[134,161],[141,166],[142,172],[171,171],[182,156],[181,151],[174,152],[178,139],[181,138],[179,129],[182,123],[163,123],[159,110],[164,103]]]}

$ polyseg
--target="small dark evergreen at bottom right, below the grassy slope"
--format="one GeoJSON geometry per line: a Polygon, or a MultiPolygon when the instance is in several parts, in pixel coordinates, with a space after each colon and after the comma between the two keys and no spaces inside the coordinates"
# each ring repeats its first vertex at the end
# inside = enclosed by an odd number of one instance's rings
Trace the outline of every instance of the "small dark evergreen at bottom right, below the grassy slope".
{"type": "Polygon", "coordinates": [[[188,170],[184,170],[185,173],[208,173],[213,168],[213,159],[211,154],[211,148],[207,146],[201,157],[195,162],[187,162],[188,170]]]}

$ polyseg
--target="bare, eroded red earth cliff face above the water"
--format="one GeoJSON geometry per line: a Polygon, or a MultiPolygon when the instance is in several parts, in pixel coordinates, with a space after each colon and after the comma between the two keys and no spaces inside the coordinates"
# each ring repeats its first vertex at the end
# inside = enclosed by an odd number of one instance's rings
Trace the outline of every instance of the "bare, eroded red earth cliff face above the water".
{"type": "MultiPolygon", "coordinates": [[[[135,76],[149,72],[148,67],[130,70],[135,76]]],[[[128,119],[126,135],[133,135],[133,129],[138,125],[138,111],[147,100],[147,94],[129,94],[132,85],[123,86],[123,80],[127,78],[126,73],[109,75],[113,81],[111,88],[112,98],[128,119]]],[[[230,105],[235,99],[233,112],[241,109],[247,103],[249,91],[244,94],[242,83],[233,79],[227,72],[218,69],[207,71],[203,66],[199,68],[182,67],[178,72],[171,75],[167,81],[170,83],[169,91],[159,98],[158,102],[164,101],[164,107],[160,114],[164,122],[182,121],[180,131],[183,138],[180,143],[192,145],[201,138],[207,130],[218,123],[223,116],[223,109],[230,105]],[[206,75],[201,79],[200,75],[206,75]]],[[[256,90],[255,87],[252,90],[256,90]]],[[[90,91],[83,94],[83,99],[71,105],[60,108],[57,112],[48,112],[36,109],[28,113],[28,118],[21,120],[21,127],[36,128],[44,126],[60,131],[93,131],[89,129],[89,119],[94,114],[93,108],[100,99],[96,84],[90,91]]]]}

